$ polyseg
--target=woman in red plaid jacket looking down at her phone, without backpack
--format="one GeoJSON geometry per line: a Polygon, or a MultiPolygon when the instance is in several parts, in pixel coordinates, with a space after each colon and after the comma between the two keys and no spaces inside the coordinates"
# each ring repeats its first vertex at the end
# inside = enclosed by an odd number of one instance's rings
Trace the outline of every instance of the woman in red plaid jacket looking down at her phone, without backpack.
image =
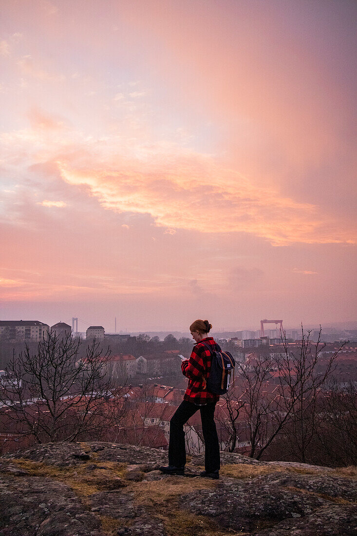
{"type": "Polygon", "coordinates": [[[186,451],[183,425],[199,410],[205,442],[205,471],[200,475],[219,478],[219,442],[214,422],[214,408],[219,400],[219,394],[210,393],[206,389],[206,380],[211,371],[211,352],[219,349],[213,337],[208,336],[211,329],[212,325],[207,320],[196,320],[190,325],[190,332],[196,345],[190,359],[184,360],[181,364],[182,374],[189,378],[189,384],[183,402],[170,421],[169,465],[160,467],[162,473],[184,474],[186,451]]]}

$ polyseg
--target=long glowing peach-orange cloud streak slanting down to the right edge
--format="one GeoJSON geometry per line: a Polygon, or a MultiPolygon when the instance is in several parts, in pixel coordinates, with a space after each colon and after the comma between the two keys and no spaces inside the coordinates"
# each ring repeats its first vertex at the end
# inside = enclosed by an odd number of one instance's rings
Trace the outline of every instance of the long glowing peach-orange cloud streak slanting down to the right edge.
{"type": "Polygon", "coordinates": [[[319,214],[318,207],[258,188],[211,157],[177,150],[152,159],[150,164],[118,155],[115,165],[57,164],[66,182],[86,185],[106,209],[150,213],[158,226],[251,233],[274,245],[355,242],[352,233],[319,214]]]}

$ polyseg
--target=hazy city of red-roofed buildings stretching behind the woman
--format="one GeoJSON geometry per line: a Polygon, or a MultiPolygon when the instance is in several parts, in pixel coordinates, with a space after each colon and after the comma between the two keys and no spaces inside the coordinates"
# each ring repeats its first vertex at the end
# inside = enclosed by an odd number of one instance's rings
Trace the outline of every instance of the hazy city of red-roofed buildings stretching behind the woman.
{"type": "MultiPolygon", "coordinates": [[[[184,333],[177,338],[175,337],[177,333],[175,335],[167,333],[162,338],[147,333],[106,333],[103,326],[88,326],[86,332],[80,333],[74,331],[77,329],[77,320],[73,317],[72,325],[57,322],[52,326],[40,321],[0,321],[0,367],[3,368],[0,370],[0,398],[4,412],[0,421],[2,451],[17,450],[19,446],[34,441],[32,434],[28,434],[27,421],[27,425],[20,431],[18,424],[13,428],[12,419],[6,418],[6,415],[15,411],[17,404],[21,407],[25,403],[29,411],[36,411],[37,414],[48,411],[46,396],[34,397],[34,392],[29,387],[31,384],[26,386],[27,375],[21,376],[17,369],[18,362],[14,360],[16,354],[20,355],[20,358],[24,356],[21,359],[26,368],[27,362],[33,359],[31,355],[35,356],[36,351],[40,352],[40,346],[42,352],[44,348],[49,351],[47,343],[53,345],[53,351],[57,355],[56,363],[61,363],[63,355],[66,355],[63,350],[66,345],[72,348],[70,362],[75,367],[73,370],[80,370],[81,367],[86,370],[88,355],[91,355],[91,351],[93,353],[95,348],[98,370],[101,370],[103,378],[108,381],[107,389],[110,384],[109,392],[116,393],[110,394],[110,397],[113,397],[115,404],[122,408],[122,415],[119,417],[116,415],[120,424],[116,422],[113,428],[113,423],[108,422],[104,430],[100,428],[101,439],[105,437],[106,440],[113,441],[115,431],[116,441],[167,450],[170,417],[180,405],[187,388],[187,380],[181,373],[181,361],[189,359],[195,341],[184,333]]],[[[322,330],[305,330],[302,326],[300,331],[298,329],[285,331],[282,320],[267,319],[262,320],[260,326],[261,329],[255,331],[212,333],[221,348],[229,351],[236,362],[236,375],[230,396],[223,397],[218,405],[218,431],[222,450],[232,449],[231,412],[234,407],[244,407],[250,385],[249,375],[250,377],[257,375],[256,382],[261,384],[259,396],[263,405],[269,405],[272,400],[274,404],[277,403],[277,399],[285,400],[284,391],[289,388],[289,381],[299,376],[298,361],[302,351],[305,352],[304,359],[307,362],[312,359],[315,372],[323,378],[315,396],[318,393],[323,399],[324,393],[329,393],[331,389],[333,392],[337,389],[340,393],[352,389],[351,401],[354,404],[357,389],[357,330],[340,329],[324,334],[322,330]],[[269,329],[269,326],[273,329],[269,329]],[[259,376],[262,367],[264,375],[259,376]],[[289,371],[289,381],[286,368],[289,371]]],[[[51,367],[56,365],[52,364],[51,367]]],[[[306,381],[313,381],[313,376],[306,378],[306,381]]],[[[71,400],[78,397],[86,399],[91,398],[91,395],[88,392],[81,392],[73,379],[66,390],[61,391],[58,401],[61,401],[61,404],[68,404],[73,411],[71,400]]],[[[105,399],[108,400],[108,395],[105,399]]],[[[106,404],[110,406],[108,401],[106,404]]],[[[278,408],[280,413],[281,408],[279,406],[278,408]]],[[[233,449],[247,454],[252,448],[248,434],[249,421],[244,419],[242,410],[240,413],[241,431],[240,435],[236,436],[233,449]]],[[[190,419],[186,427],[187,449],[191,453],[199,454],[204,449],[201,427],[199,418],[190,419]]],[[[85,433],[83,434],[85,437],[85,433]]],[[[58,439],[60,437],[62,436],[58,439]]],[[[280,434],[279,441],[273,442],[272,445],[276,451],[268,449],[269,457],[281,456],[280,434]]]]}

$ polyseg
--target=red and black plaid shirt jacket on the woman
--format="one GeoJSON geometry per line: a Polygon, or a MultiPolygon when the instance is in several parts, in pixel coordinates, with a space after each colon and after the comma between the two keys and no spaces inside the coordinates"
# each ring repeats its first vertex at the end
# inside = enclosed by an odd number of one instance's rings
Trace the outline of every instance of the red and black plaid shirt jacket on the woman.
{"type": "MultiPolygon", "coordinates": [[[[202,342],[212,346],[212,351],[218,349],[213,337],[206,337],[202,339],[202,342]]],[[[199,342],[194,346],[190,359],[182,361],[182,374],[189,379],[188,388],[183,396],[184,400],[199,405],[219,400],[219,394],[210,393],[206,389],[206,379],[209,378],[211,372],[211,358],[209,349],[199,342]]]]}

